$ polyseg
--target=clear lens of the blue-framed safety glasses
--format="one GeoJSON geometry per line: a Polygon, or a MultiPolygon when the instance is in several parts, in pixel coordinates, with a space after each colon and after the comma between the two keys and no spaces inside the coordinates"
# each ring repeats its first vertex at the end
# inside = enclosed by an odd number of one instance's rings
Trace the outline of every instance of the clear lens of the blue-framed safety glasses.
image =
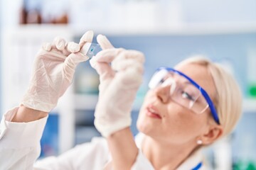
{"type": "Polygon", "coordinates": [[[159,86],[170,86],[171,100],[195,113],[203,113],[208,108],[201,91],[181,74],[166,69],[159,70],[149,81],[149,88],[154,89],[159,86]]]}

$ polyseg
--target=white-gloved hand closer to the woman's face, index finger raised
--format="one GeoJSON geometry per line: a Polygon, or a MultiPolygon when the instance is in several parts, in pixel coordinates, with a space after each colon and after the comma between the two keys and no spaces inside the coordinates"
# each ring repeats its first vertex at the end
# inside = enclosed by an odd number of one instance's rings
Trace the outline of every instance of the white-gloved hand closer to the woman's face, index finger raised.
{"type": "Polygon", "coordinates": [[[102,136],[127,128],[132,123],[132,103],[144,72],[144,55],[135,50],[114,48],[103,35],[97,36],[102,51],[90,64],[100,74],[95,127],[102,136]]]}

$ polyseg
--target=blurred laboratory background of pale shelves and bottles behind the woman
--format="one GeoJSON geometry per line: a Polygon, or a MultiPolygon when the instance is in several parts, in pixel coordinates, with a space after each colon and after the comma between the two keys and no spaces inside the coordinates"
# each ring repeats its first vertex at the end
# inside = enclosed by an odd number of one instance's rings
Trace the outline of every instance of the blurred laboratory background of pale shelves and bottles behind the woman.
{"type": "MultiPolygon", "coordinates": [[[[256,169],[255,0],[0,0],[0,115],[21,101],[42,42],[56,36],[78,42],[87,30],[146,56],[144,83],[132,109],[134,135],[157,67],[174,67],[191,55],[223,64],[242,89],[243,115],[231,135],[206,148],[206,159],[212,169],[256,169]]],[[[41,157],[100,136],[93,125],[98,85],[89,62],[80,64],[50,113],[41,157]]]]}

